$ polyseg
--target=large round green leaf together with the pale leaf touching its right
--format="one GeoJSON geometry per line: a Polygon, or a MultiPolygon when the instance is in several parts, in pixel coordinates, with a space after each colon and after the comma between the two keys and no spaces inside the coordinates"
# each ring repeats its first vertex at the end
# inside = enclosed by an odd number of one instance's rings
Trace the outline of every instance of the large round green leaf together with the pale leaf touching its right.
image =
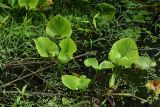
{"type": "Polygon", "coordinates": [[[109,52],[111,62],[129,68],[135,64],[141,70],[148,70],[156,66],[156,62],[149,57],[139,56],[136,43],[129,38],[123,38],[115,42],[109,52]]]}

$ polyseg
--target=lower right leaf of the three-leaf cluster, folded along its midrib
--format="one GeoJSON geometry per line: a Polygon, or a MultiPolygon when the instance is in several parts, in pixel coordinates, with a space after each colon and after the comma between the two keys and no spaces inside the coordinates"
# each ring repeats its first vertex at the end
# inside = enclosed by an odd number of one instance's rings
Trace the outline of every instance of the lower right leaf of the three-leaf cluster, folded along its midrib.
{"type": "Polygon", "coordinates": [[[59,53],[58,59],[61,62],[67,63],[73,59],[73,53],[76,52],[77,46],[70,37],[61,40],[59,46],[61,51],[59,53]]]}

